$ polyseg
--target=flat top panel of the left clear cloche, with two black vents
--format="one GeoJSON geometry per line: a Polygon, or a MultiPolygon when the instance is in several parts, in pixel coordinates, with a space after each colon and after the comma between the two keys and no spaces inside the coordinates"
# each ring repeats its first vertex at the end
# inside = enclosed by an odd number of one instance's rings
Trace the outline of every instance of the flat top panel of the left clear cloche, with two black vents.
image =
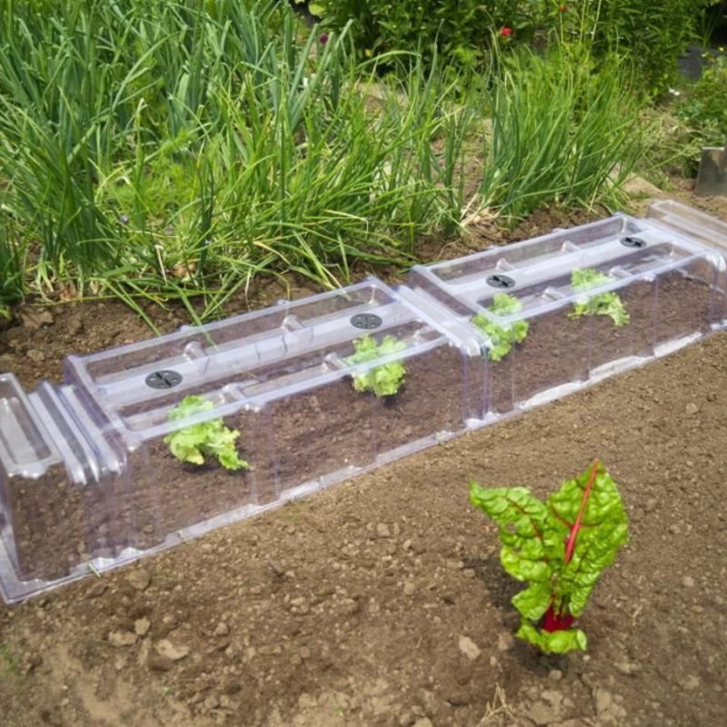
{"type": "MultiPolygon", "coordinates": [[[[452,330],[416,307],[413,294],[370,279],[200,328],[87,356],[70,356],[65,377],[127,443],[179,427],[169,413],[186,395],[214,409],[184,425],[225,416],[333,382],[427,349],[463,347],[452,330]],[[395,350],[352,361],[356,342],[390,336],[395,350]]],[[[450,326],[451,328],[451,326],[450,326]]],[[[473,344],[476,346],[476,344],[473,344]]]]}

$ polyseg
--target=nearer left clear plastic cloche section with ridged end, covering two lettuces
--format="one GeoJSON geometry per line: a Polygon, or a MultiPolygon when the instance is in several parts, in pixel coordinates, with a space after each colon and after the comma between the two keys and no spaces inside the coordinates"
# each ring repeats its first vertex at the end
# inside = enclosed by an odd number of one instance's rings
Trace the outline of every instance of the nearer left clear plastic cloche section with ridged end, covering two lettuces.
{"type": "Polygon", "coordinates": [[[3,533],[16,573],[0,578],[5,597],[462,432],[479,348],[468,353],[410,297],[371,280],[70,356],[67,383],[44,384],[43,396],[26,398],[7,376],[0,401],[32,429],[15,436],[4,419],[3,533]]]}

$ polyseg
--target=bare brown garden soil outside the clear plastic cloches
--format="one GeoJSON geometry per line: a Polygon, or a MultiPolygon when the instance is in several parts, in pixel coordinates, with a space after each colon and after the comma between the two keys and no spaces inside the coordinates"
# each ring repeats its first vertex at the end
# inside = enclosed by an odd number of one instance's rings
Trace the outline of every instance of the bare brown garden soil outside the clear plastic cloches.
{"type": "MultiPolygon", "coordinates": [[[[59,377],[64,354],[148,333],[101,305],[5,331],[1,367],[35,385],[59,377]]],[[[164,330],[181,323],[165,315],[164,330]]],[[[719,334],[101,579],[0,606],[0,723],[721,725],[726,376],[719,334]],[[594,457],[621,486],[632,541],[583,616],[589,652],[546,659],[513,641],[520,586],[467,483],[544,495],[594,457]]]]}

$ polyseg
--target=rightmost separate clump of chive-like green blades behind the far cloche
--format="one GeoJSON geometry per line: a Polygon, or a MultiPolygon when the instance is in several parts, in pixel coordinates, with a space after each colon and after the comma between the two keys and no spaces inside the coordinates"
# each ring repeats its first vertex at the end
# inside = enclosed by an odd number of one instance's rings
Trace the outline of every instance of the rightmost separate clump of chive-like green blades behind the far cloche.
{"type": "Polygon", "coordinates": [[[483,206],[517,219],[547,204],[622,204],[620,184],[641,158],[648,133],[630,81],[621,60],[596,69],[577,45],[503,59],[490,92],[483,206]]]}

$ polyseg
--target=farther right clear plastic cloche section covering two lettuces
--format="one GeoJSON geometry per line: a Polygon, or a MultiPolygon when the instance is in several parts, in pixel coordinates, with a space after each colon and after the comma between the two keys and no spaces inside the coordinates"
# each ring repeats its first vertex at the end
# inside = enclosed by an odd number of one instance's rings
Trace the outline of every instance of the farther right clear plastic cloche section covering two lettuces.
{"type": "Polygon", "coordinates": [[[720,251],[727,226],[679,219],[666,228],[616,215],[414,267],[413,288],[483,343],[488,373],[480,416],[510,413],[541,394],[553,398],[720,327],[722,257],[694,241],[720,251]]]}

